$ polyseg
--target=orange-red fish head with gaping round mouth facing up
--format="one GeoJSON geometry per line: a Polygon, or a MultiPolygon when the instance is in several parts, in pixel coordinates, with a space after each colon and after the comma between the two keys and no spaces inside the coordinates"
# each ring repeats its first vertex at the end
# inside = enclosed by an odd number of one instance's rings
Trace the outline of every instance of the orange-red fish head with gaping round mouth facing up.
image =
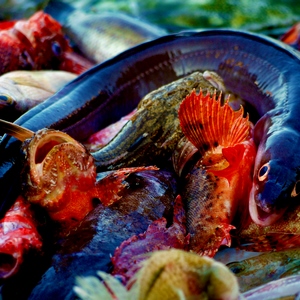
{"type": "Polygon", "coordinates": [[[52,129],[37,131],[23,149],[24,197],[63,226],[82,220],[95,204],[93,157],[72,137],[52,129]]]}

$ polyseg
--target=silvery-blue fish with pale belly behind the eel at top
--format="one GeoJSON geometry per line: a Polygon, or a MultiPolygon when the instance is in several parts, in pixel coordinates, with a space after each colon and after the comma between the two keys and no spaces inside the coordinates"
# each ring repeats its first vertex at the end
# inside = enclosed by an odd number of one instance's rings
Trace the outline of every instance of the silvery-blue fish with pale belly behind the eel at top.
{"type": "Polygon", "coordinates": [[[45,12],[62,24],[80,52],[94,63],[167,34],[162,28],[121,12],[89,13],[60,1],[51,1],[45,12]]]}

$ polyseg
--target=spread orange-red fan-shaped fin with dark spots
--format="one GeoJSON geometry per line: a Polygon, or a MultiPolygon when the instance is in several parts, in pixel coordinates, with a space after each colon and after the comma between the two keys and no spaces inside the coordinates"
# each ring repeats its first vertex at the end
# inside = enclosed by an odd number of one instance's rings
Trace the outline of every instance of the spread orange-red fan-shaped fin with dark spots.
{"type": "Polygon", "coordinates": [[[221,105],[221,94],[197,95],[193,90],[182,101],[178,115],[185,136],[201,154],[218,147],[231,147],[243,142],[250,133],[249,117],[243,117],[243,107],[234,111],[228,104],[221,105]]]}

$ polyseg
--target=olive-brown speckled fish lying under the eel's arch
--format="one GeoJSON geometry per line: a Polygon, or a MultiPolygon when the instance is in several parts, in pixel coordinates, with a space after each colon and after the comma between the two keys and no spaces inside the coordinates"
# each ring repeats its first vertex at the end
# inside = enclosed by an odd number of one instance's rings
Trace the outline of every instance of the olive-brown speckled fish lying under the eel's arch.
{"type": "Polygon", "coordinates": [[[182,138],[178,108],[193,89],[213,92],[214,86],[195,72],[147,94],[118,135],[92,152],[97,170],[144,164],[166,164],[182,138]]]}

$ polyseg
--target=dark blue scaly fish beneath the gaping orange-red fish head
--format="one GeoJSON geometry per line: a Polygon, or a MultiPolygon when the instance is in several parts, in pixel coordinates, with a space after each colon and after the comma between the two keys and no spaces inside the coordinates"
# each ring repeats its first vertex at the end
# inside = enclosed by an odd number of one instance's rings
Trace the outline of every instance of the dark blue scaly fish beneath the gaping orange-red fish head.
{"type": "Polygon", "coordinates": [[[76,299],[76,276],[110,272],[111,257],[124,240],[143,233],[162,217],[172,224],[178,194],[172,172],[144,170],[125,181],[121,199],[108,206],[99,203],[79,226],[57,240],[51,265],[28,299],[76,299]]]}

